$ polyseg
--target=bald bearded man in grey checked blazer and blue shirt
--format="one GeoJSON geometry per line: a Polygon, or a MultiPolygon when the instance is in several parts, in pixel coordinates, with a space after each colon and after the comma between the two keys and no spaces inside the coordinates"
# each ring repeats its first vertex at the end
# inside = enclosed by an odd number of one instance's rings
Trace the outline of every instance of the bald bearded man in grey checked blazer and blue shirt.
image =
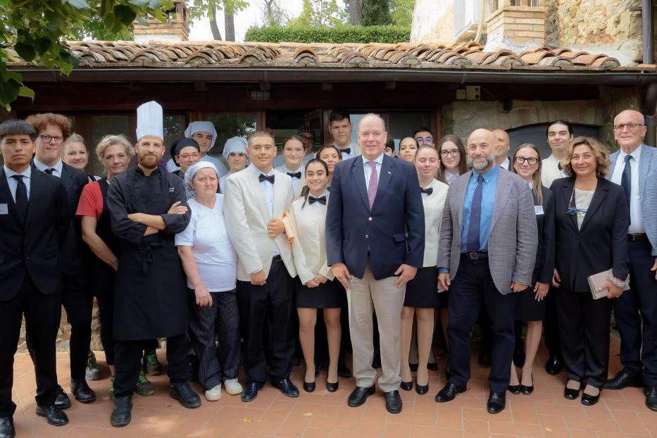
{"type": "Polygon", "coordinates": [[[500,168],[488,130],[468,138],[473,170],[449,186],[438,246],[439,282],[449,296],[449,382],[436,401],[451,401],[470,378],[470,331],[482,303],[492,320],[489,413],[506,406],[513,356],[515,300],[532,284],[538,244],[534,199],[527,182],[500,168]]]}

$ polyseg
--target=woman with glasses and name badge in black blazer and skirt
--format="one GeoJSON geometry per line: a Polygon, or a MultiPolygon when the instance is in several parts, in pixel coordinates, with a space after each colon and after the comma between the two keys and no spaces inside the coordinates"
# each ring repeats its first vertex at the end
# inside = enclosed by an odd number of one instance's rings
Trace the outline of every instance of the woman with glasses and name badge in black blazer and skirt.
{"type": "MultiPolygon", "coordinates": [[[[511,171],[523,177],[534,194],[534,212],[539,233],[536,263],[532,275],[533,287],[528,287],[515,296],[515,320],[519,323],[516,330],[522,334],[522,324],[527,323],[523,377],[518,382],[515,365],[511,362],[511,381],[508,385],[509,392],[513,394],[529,395],[534,391],[532,365],[543,331],[544,298],[550,288],[554,271],[554,199],[552,192],[541,184],[541,154],[536,146],[531,143],[518,146],[511,158],[511,164],[511,171]]],[[[519,338],[520,336],[517,335],[516,342],[519,338]]]]}

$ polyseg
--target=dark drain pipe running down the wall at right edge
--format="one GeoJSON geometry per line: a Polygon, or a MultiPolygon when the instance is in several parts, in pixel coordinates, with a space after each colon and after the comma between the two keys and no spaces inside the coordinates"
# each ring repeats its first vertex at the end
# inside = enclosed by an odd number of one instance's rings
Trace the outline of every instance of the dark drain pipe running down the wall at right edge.
{"type": "MultiPolygon", "coordinates": [[[[641,10],[643,58],[644,64],[655,63],[655,47],[653,33],[653,2],[643,0],[641,10]]],[[[649,146],[657,146],[657,84],[648,85],[643,92],[642,113],[646,118],[646,139],[649,146]]]]}

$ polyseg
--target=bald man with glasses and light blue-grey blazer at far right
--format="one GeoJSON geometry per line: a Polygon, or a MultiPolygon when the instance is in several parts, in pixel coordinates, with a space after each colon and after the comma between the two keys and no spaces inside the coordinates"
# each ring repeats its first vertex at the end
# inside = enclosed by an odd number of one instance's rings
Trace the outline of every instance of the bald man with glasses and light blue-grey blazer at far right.
{"type": "Polygon", "coordinates": [[[623,187],[630,210],[630,290],[613,302],[623,368],[604,387],[645,386],[646,406],[657,411],[657,151],[643,144],[646,130],[638,111],[613,120],[620,150],[611,154],[607,177],[623,187]]]}

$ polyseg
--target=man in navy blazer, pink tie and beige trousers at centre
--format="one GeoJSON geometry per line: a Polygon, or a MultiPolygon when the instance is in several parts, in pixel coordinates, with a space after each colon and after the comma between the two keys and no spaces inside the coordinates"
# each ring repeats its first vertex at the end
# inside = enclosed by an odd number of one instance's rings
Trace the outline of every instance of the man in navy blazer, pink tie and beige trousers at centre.
{"type": "Polygon", "coordinates": [[[382,375],[390,413],[401,412],[401,308],[406,282],[423,264],[425,224],[418,174],[411,163],[383,154],[385,123],[361,119],[362,156],[339,163],[326,215],[327,263],[347,289],[356,389],[349,406],[374,394],[373,308],[380,332],[382,375]]]}

